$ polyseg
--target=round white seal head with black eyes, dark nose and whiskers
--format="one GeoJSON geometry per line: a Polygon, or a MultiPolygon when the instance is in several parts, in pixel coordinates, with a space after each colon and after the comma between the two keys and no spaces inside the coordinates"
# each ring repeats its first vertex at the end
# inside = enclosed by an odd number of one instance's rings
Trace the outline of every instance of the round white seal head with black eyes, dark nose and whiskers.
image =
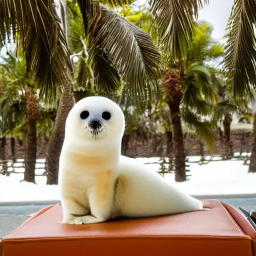
{"type": "Polygon", "coordinates": [[[120,146],[124,115],[112,100],[91,96],[79,100],[70,110],[65,125],[65,141],[79,148],[120,146]]]}

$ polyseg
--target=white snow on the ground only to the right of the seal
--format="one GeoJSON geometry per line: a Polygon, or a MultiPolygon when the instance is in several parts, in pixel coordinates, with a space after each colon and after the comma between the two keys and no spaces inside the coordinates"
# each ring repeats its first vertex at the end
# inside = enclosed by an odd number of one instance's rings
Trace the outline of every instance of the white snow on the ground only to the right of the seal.
{"type": "MultiPolygon", "coordinates": [[[[146,158],[137,158],[145,163],[146,158]]],[[[151,160],[152,158],[150,158],[151,160]]],[[[157,160],[155,158],[155,160],[157,160]]],[[[196,157],[189,157],[196,161],[196,157]]],[[[152,160],[153,161],[153,160],[152,160]]],[[[164,178],[180,190],[194,195],[224,195],[224,194],[255,194],[256,173],[248,173],[248,165],[243,161],[225,160],[212,161],[207,164],[189,163],[191,174],[185,182],[175,182],[174,173],[164,174],[164,178]]],[[[156,169],[157,164],[147,164],[148,168],[156,169]]]]}

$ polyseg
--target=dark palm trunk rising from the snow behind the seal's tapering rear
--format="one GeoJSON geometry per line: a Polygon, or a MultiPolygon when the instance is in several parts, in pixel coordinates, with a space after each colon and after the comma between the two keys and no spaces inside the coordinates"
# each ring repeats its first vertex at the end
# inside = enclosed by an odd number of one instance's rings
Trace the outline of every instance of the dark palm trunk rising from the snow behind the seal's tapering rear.
{"type": "Polygon", "coordinates": [[[181,126],[179,101],[168,103],[172,122],[172,151],[175,161],[175,181],[185,181],[185,149],[181,126]]]}

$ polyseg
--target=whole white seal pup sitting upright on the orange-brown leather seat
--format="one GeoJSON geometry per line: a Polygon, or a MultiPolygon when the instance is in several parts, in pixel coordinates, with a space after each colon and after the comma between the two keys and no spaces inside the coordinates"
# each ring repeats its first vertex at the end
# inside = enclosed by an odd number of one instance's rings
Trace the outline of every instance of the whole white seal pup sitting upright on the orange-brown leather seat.
{"type": "Polygon", "coordinates": [[[202,209],[135,159],[120,155],[124,116],[104,97],[79,100],[66,119],[59,159],[62,223],[106,221],[202,209]]]}

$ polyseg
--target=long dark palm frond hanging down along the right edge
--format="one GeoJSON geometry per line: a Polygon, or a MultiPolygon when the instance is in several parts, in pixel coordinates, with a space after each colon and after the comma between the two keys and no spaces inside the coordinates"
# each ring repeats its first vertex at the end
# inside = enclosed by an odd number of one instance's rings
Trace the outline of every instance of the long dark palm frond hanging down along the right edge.
{"type": "Polygon", "coordinates": [[[255,13],[256,1],[234,0],[224,63],[237,100],[256,88],[255,13]]]}

